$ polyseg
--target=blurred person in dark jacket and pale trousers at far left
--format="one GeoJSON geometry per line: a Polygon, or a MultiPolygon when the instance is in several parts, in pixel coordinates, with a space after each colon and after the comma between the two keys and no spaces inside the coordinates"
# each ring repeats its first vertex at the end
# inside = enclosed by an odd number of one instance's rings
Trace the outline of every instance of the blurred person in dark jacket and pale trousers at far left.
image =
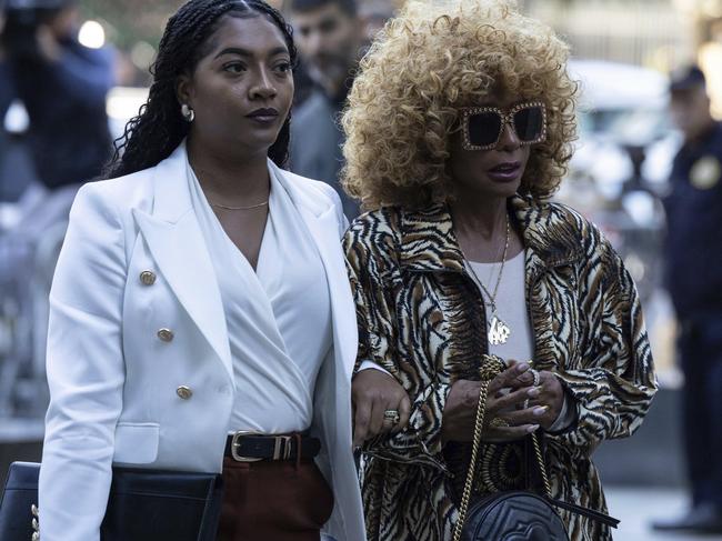
{"type": "Polygon", "coordinates": [[[32,334],[16,362],[34,374],[31,403],[40,411],[52,270],[79,187],[111,156],[106,98],[114,54],[80,43],[74,0],[7,0],[1,18],[0,201],[12,210],[2,216],[0,251],[4,270],[23,284],[13,294],[32,334]]]}

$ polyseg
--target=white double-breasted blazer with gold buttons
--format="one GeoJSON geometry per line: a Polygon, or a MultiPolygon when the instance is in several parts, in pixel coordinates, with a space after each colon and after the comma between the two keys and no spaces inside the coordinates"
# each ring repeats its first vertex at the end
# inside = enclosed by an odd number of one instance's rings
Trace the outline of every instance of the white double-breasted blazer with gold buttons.
{"type": "MultiPolygon", "coordinates": [[[[222,469],[233,370],[185,161],[181,144],[154,168],[86,184],[73,203],[50,292],[43,541],[98,541],[112,463],[222,469]]],[[[340,244],[345,219],[332,188],[269,167],[313,236],[331,295],[334,345],[317,382],[312,425],[335,497],[324,532],[364,541],[352,455],[358,335],[340,244]]]]}

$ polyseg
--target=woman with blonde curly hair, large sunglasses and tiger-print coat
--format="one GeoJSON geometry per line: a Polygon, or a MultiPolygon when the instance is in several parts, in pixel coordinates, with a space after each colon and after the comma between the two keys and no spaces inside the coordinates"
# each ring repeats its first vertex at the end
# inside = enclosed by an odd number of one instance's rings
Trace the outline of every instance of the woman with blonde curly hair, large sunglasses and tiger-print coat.
{"type": "MultiPolygon", "coordinates": [[[[404,430],[363,448],[370,540],[451,539],[482,387],[472,500],[542,485],[533,433],[551,497],[606,512],[591,453],[656,390],[622,260],[549,202],[575,137],[568,56],[512,2],[461,0],[408,4],[362,61],[343,117],[345,187],[370,210],[344,239],[358,362],[411,402],[404,430]]],[[[570,539],[611,539],[558,511],[570,539]]]]}

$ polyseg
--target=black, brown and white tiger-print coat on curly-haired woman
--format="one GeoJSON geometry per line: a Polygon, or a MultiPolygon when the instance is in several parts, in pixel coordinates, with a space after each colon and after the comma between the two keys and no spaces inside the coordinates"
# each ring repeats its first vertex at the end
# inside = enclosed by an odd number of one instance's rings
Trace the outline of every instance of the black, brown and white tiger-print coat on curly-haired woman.
{"type": "MultiPolygon", "coordinates": [[[[630,274],[601,232],[571,209],[514,197],[510,214],[525,247],[534,365],[553,371],[576,409],[562,433],[544,435],[554,498],[606,511],[590,457],[630,435],[656,391],[642,310],[630,274]]],[[[361,481],[370,541],[451,539],[469,445],[441,442],[450,387],[478,379],[487,351],[481,294],[467,274],[445,206],[383,208],[344,238],[360,350],[411,398],[408,428],[364,448],[361,481]],[[464,461],[465,459],[465,461],[464,461]]],[[[529,482],[520,443],[482,447],[478,494],[529,482]]],[[[611,539],[606,527],[560,512],[570,538],[611,539]]]]}

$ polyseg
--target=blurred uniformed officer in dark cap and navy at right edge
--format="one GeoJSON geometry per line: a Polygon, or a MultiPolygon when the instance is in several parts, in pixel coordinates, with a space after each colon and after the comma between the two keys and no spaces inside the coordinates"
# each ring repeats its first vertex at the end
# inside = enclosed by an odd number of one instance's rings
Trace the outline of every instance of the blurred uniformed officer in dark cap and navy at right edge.
{"type": "Polygon", "coordinates": [[[722,123],[710,113],[704,73],[673,72],[672,120],[684,136],[664,200],[666,288],[679,321],[682,424],[692,507],[659,530],[722,533],[722,123]]]}

